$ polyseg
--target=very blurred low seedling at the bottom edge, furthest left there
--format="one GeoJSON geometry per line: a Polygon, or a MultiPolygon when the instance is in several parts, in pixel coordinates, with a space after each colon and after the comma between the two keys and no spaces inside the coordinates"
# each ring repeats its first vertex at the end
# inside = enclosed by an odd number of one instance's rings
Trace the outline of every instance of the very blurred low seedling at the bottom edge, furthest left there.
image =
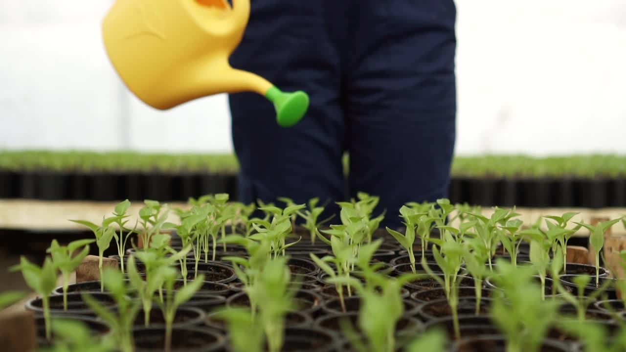
{"type": "Polygon", "coordinates": [[[52,322],[54,345],[40,352],[115,352],[111,338],[94,338],[89,327],[79,320],[55,318],[52,322]]]}

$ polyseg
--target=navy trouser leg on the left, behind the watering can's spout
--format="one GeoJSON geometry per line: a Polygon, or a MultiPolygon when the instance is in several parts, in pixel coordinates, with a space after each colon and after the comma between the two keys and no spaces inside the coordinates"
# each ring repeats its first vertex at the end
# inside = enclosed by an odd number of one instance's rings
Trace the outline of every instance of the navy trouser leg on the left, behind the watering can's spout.
{"type": "Polygon", "coordinates": [[[263,96],[230,95],[242,202],[282,205],[277,198],[290,197],[302,204],[319,197],[332,209],[344,198],[341,71],[324,16],[322,6],[307,1],[252,1],[250,23],[232,66],[264,76],[281,90],[304,90],[310,108],[300,123],[282,128],[263,96]]]}

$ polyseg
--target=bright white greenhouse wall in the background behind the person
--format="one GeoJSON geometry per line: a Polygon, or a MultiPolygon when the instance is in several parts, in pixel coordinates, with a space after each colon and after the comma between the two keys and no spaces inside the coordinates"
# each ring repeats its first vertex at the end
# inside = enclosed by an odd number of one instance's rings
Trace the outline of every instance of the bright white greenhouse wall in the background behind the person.
{"type": "MultiPolygon", "coordinates": [[[[111,3],[0,0],[0,149],[231,151],[225,95],[158,111],[125,90],[111,3]]],[[[458,154],[626,153],[625,1],[456,3],[458,154]]]]}

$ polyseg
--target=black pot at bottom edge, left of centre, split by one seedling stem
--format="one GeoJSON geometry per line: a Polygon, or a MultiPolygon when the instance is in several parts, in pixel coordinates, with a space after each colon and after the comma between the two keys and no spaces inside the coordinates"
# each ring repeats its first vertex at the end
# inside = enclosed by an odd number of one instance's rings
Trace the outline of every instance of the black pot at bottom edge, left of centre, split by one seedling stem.
{"type": "MultiPolygon", "coordinates": [[[[160,352],[165,346],[165,328],[133,328],[135,352],[160,352]]],[[[225,336],[207,328],[172,329],[172,352],[223,351],[225,336]]]]}

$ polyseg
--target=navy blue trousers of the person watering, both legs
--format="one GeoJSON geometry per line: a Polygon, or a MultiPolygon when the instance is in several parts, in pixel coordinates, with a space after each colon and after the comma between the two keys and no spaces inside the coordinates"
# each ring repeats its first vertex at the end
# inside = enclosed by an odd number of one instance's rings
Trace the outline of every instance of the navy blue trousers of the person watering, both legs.
{"type": "Polygon", "coordinates": [[[336,212],[334,202],[362,191],[381,197],[382,225],[398,227],[406,202],[447,197],[455,22],[453,0],[252,0],[232,66],[304,90],[311,103],[282,128],[263,96],[230,95],[239,199],[319,197],[336,212]]]}

